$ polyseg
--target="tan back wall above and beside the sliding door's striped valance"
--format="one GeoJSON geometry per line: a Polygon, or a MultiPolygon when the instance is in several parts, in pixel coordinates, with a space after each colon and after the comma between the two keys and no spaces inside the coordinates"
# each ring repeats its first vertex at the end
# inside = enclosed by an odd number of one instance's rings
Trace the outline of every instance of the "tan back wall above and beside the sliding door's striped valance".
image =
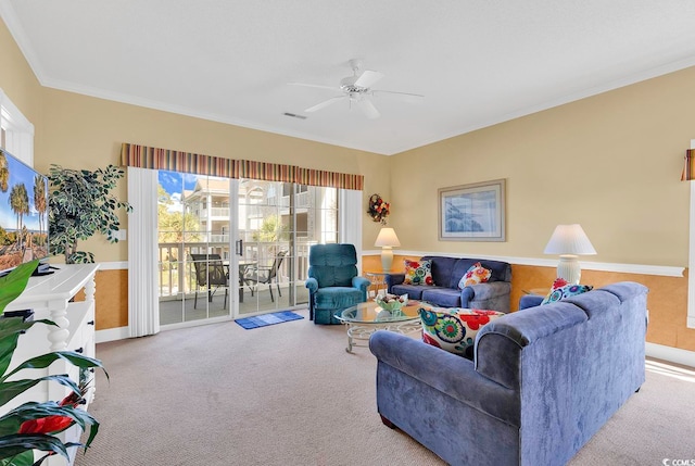
{"type": "MultiPolygon", "coordinates": [[[[365,192],[389,191],[389,160],[351,149],[225,125],[55,89],[45,89],[43,140],[35,165],[48,171],[56,163],[71,168],[117,164],[123,142],[190,151],[229,159],[287,163],[309,168],[365,175],[365,192]],[[387,178],[384,180],[384,178],[387,178]]],[[[126,184],[118,196],[127,198],[126,184]]],[[[366,207],[365,207],[366,212],[366,207]]],[[[365,214],[366,216],[366,214],[365,214]]],[[[122,224],[127,228],[126,215],[122,224]]],[[[365,234],[371,239],[375,232],[365,234]]],[[[374,239],[371,239],[374,244],[374,239]]],[[[110,244],[94,237],[84,244],[99,262],[126,261],[127,243],[110,244]]]]}

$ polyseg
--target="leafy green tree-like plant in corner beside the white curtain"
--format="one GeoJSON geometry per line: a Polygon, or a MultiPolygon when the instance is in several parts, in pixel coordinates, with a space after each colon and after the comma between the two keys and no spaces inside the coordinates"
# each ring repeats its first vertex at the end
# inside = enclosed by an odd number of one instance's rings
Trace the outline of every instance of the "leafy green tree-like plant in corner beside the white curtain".
{"type": "Polygon", "coordinates": [[[118,242],[115,232],[121,227],[117,212],[132,207],[119,201],[111,191],[125,172],[114,165],[88,169],[51,165],[48,179],[49,241],[52,254],[64,254],[66,264],[94,262],[94,255],[79,251],[77,242],[101,232],[110,242],[118,242]]]}

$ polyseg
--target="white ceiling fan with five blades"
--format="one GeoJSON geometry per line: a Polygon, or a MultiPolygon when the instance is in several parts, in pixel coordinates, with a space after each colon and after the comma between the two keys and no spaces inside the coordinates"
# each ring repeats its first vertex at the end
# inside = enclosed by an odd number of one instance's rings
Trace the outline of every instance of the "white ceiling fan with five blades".
{"type": "Polygon", "coordinates": [[[402,96],[405,98],[422,99],[425,96],[419,93],[409,93],[409,92],[396,92],[393,90],[381,90],[381,89],[372,89],[377,81],[379,81],[383,77],[383,73],[365,70],[361,72],[362,68],[362,60],[353,59],[349,62],[350,67],[352,68],[352,76],[344,77],[340,80],[340,86],[321,86],[315,84],[305,84],[305,83],[288,83],[290,86],[304,86],[304,87],[315,87],[319,89],[329,89],[333,91],[342,92],[340,96],[331,97],[328,100],[324,100],[316,105],[309,106],[305,110],[307,113],[316,112],[331,103],[336,103],[339,100],[348,99],[350,105],[354,103],[356,106],[362,110],[367,118],[378,118],[381,114],[377,110],[377,108],[371,103],[369,99],[370,96],[375,96],[378,93],[390,93],[402,96]]]}

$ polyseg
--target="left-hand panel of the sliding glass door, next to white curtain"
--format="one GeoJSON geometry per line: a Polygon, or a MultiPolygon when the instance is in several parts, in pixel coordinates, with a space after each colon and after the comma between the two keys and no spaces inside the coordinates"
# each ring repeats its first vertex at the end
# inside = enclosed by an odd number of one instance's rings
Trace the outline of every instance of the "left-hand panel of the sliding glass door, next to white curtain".
{"type": "Polygon", "coordinates": [[[159,173],[161,325],[231,318],[231,182],[159,173]]]}

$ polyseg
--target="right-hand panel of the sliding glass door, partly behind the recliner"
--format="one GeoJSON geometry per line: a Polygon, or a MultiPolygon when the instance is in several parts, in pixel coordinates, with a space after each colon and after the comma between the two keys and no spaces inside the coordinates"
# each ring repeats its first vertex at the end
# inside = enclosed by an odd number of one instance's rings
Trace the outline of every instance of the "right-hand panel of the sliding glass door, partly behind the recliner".
{"type": "Polygon", "coordinates": [[[239,314],[306,305],[308,248],[338,240],[337,189],[239,180],[239,314]]]}

